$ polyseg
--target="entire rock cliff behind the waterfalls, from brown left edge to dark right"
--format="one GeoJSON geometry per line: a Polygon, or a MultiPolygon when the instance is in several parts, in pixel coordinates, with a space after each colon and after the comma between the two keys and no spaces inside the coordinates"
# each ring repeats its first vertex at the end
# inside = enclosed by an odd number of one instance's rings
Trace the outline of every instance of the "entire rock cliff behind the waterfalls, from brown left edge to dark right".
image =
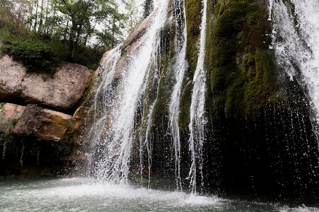
{"type": "MultiPolygon", "coordinates": [[[[159,47],[154,50],[155,59],[149,62],[148,81],[141,88],[145,90],[139,93],[142,97],[137,103],[132,102],[136,111],[134,127],[130,129],[133,135],[129,142],[132,145],[128,147],[131,148],[129,178],[137,181],[149,179],[152,188],[158,186],[158,182],[164,182],[162,187],[173,189],[176,188],[176,180],[181,181],[183,188],[189,188],[187,179],[192,163],[190,106],[203,8],[200,1],[185,2],[187,65],[180,90],[180,149],[177,150],[170,131],[169,105],[179,56],[178,44],[183,31],[180,28],[183,12],[174,11],[180,7],[174,4],[178,3],[170,1],[167,22],[158,29],[156,41],[159,41],[159,47]],[[180,16],[176,17],[179,12],[180,16]],[[149,119],[150,124],[147,123],[149,119]],[[143,137],[146,135],[149,137],[143,137]],[[143,139],[145,143],[141,142],[143,139]],[[177,151],[180,152],[178,157],[173,154],[177,151]],[[180,179],[176,178],[177,166],[181,167],[178,172],[180,179]]],[[[197,189],[204,192],[275,193],[277,197],[294,193],[304,197],[317,194],[319,171],[316,168],[312,172],[312,167],[317,167],[318,149],[316,135],[312,131],[309,100],[302,86],[290,81],[276,64],[274,50],[270,48],[272,22],[268,20],[268,1],[208,0],[207,5],[204,57],[207,119],[204,141],[196,143],[194,148],[199,150],[193,156],[195,162],[192,164],[202,171],[202,175],[198,174],[194,179],[199,185],[197,189]]],[[[110,98],[104,99],[102,105],[94,105],[97,116],[100,115],[98,107],[112,108],[117,90],[123,89],[121,73],[127,70],[130,59],[135,59],[135,52],[145,41],[151,17],[136,26],[121,47],[109,89],[93,95],[98,100],[102,100],[103,96],[110,98]],[[111,103],[108,104],[108,101],[111,103]]],[[[104,54],[101,66],[108,63],[104,58],[109,54],[104,54]]],[[[109,69],[101,68],[99,76],[107,71],[109,69]]],[[[102,80],[98,78],[97,81],[102,80]]],[[[107,128],[108,125],[105,125],[107,128]]],[[[97,143],[107,137],[105,129],[101,129],[101,137],[95,140],[97,143]]],[[[103,152],[107,146],[105,143],[96,145],[98,161],[103,158],[99,155],[99,148],[103,152]]]]}

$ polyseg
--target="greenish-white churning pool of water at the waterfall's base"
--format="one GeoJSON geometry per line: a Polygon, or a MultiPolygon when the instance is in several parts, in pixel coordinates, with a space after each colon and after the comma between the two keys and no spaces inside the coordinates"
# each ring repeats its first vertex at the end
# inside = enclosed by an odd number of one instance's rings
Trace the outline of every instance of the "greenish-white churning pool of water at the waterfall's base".
{"type": "Polygon", "coordinates": [[[15,178],[0,179],[0,211],[304,212],[319,208],[196,196],[99,183],[90,178],[15,178]]]}

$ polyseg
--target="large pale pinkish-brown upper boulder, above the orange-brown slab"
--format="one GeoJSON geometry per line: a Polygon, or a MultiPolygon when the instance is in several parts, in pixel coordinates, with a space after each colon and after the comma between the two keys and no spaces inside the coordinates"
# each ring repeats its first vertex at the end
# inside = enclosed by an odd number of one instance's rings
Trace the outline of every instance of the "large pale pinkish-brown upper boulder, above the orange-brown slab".
{"type": "Polygon", "coordinates": [[[0,75],[0,101],[69,111],[83,97],[92,71],[81,65],[61,63],[53,76],[26,73],[21,64],[5,55],[0,58],[0,75]]]}

